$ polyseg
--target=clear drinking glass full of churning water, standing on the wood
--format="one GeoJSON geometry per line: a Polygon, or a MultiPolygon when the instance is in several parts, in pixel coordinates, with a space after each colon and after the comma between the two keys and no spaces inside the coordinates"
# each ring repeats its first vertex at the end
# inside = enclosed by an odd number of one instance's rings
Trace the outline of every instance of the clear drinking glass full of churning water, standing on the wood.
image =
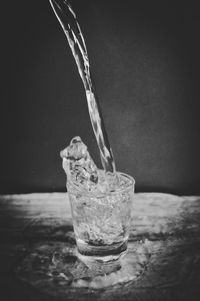
{"type": "Polygon", "coordinates": [[[78,256],[83,261],[117,261],[127,251],[135,181],[117,172],[119,186],[104,193],[67,181],[78,256]]]}

